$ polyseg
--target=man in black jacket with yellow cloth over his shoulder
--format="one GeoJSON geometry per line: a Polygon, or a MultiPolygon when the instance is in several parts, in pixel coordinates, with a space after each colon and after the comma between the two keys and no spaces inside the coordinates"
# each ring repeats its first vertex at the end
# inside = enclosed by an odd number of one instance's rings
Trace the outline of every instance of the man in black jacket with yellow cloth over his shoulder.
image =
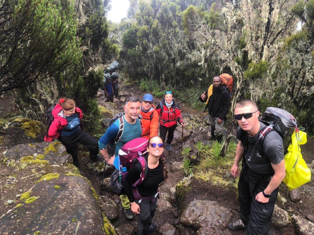
{"type": "Polygon", "coordinates": [[[230,107],[230,91],[222,83],[221,78],[215,76],[213,78],[213,85],[200,95],[199,100],[206,102],[205,112],[208,108],[208,118],[212,135],[210,139],[221,141],[224,121],[227,120],[226,115],[230,107]]]}

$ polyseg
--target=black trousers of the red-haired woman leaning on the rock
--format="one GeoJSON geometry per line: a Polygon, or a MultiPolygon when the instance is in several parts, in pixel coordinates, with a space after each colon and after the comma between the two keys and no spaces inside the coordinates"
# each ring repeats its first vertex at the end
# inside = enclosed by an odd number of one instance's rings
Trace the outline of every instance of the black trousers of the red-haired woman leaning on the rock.
{"type": "Polygon", "coordinates": [[[83,144],[89,149],[89,158],[97,157],[99,153],[98,149],[98,141],[97,139],[91,137],[86,132],[79,129],[77,133],[71,136],[59,136],[60,142],[65,146],[67,149],[67,153],[72,155],[73,158],[73,165],[79,167],[78,162],[78,143],[83,144]]]}

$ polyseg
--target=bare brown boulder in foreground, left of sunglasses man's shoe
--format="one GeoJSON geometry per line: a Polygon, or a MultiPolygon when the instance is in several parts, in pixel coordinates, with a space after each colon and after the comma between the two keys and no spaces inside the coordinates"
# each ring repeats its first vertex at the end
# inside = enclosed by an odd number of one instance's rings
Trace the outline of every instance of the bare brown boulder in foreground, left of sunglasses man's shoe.
{"type": "Polygon", "coordinates": [[[201,227],[227,228],[232,214],[217,201],[196,200],[190,202],[181,214],[181,223],[196,229],[201,227]]]}

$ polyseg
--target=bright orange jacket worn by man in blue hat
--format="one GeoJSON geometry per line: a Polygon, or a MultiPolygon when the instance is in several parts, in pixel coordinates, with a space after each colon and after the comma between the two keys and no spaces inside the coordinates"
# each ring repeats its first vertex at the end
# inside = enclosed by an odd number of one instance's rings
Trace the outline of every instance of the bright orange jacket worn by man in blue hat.
{"type": "Polygon", "coordinates": [[[142,137],[149,139],[157,135],[158,132],[158,113],[156,112],[156,107],[152,105],[154,110],[149,112],[143,112],[142,115],[142,137]]]}

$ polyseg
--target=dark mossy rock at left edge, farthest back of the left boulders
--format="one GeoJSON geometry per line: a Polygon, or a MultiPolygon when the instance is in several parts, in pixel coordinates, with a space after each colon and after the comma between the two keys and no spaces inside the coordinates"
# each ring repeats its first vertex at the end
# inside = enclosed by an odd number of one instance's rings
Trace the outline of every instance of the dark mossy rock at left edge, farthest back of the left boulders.
{"type": "Polygon", "coordinates": [[[4,132],[0,135],[0,152],[17,145],[35,143],[43,140],[42,123],[28,118],[15,118],[8,122],[4,132]]]}

